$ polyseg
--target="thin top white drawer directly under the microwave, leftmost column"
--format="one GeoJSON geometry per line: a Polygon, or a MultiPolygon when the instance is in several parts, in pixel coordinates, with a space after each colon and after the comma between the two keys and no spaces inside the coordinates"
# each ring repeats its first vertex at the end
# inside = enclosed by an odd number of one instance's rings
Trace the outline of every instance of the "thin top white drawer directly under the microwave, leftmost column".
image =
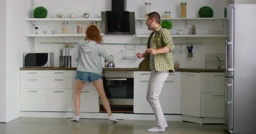
{"type": "Polygon", "coordinates": [[[21,70],[20,77],[48,77],[46,70],[21,70]]]}

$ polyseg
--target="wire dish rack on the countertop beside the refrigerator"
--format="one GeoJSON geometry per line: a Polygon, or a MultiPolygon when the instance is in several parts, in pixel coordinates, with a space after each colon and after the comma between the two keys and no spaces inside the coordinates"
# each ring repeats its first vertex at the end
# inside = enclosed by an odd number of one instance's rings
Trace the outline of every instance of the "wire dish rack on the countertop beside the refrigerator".
{"type": "Polygon", "coordinates": [[[225,68],[225,54],[206,54],[205,68],[225,68]]]}

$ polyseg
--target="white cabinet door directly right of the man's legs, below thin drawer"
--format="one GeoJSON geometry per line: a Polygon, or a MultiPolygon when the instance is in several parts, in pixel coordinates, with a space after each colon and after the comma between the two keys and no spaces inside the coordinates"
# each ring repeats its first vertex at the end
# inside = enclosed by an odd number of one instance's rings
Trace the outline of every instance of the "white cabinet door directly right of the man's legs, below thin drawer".
{"type": "Polygon", "coordinates": [[[181,80],[166,80],[159,100],[163,113],[181,114],[181,80]]]}

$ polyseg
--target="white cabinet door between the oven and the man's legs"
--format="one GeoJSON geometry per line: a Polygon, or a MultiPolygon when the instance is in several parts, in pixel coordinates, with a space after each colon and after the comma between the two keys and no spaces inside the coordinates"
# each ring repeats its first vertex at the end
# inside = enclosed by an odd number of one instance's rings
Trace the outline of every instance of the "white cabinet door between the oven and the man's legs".
{"type": "Polygon", "coordinates": [[[153,113],[147,102],[147,85],[149,78],[134,79],[133,113],[153,113]]]}

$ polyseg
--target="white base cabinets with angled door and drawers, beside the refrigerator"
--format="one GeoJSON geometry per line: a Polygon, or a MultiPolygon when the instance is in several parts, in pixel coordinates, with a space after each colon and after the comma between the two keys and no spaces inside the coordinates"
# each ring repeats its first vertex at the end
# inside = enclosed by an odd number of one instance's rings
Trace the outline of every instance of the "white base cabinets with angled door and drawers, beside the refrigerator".
{"type": "Polygon", "coordinates": [[[182,72],[181,113],[184,121],[223,123],[224,73],[182,72]]]}

